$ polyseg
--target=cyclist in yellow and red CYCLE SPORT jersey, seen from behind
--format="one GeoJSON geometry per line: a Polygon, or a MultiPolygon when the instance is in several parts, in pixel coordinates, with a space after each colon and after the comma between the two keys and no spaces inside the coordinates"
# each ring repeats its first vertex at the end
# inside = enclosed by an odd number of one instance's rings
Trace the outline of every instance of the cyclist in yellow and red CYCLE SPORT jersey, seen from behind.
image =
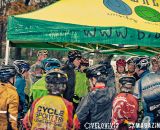
{"type": "Polygon", "coordinates": [[[71,130],[73,104],[62,98],[67,76],[62,71],[46,75],[49,95],[35,100],[23,123],[28,130],[71,130]]]}

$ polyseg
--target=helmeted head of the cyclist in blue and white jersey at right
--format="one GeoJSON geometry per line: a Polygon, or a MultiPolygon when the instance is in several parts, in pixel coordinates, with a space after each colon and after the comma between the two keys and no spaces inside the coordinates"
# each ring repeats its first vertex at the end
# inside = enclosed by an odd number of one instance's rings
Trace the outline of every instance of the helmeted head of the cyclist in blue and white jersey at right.
{"type": "Polygon", "coordinates": [[[135,72],[138,75],[141,75],[144,71],[149,70],[149,66],[150,66],[149,57],[145,57],[145,56],[137,57],[137,58],[135,58],[134,63],[136,66],[135,72]]]}

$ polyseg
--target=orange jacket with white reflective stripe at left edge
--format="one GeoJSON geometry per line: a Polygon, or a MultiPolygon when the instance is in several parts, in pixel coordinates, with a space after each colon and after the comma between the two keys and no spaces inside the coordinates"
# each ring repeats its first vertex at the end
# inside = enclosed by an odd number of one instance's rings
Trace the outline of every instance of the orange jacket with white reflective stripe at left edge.
{"type": "Polygon", "coordinates": [[[0,129],[18,130],[19,97],[16,88],[8,83],[0,83],[0,129]],[[9,126],[11,128],[9,128],[9,126]]]}

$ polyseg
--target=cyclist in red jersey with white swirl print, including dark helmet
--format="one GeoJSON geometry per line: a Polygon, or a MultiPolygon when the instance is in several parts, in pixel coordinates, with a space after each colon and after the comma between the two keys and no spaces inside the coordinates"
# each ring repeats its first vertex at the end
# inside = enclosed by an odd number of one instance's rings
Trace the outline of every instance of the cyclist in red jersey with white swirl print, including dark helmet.
{"type": "Polygon", "coordinates": [[[124,75],[119,79],[120,93],[115,97],[112,108],[112,123],[119,124],[119,129],[129,129],[128,124],[135,124],[138,117],[138,101],[132,95],[136,79],[124,75]]]}

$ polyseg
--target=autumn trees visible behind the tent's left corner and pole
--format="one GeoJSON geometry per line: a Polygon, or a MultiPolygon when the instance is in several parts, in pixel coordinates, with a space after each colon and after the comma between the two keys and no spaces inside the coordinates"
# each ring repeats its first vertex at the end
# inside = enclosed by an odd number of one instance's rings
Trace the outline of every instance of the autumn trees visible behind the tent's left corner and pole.
{"type": "MultiPolygon", "coordinates": [[[[9,15],[23,14],[48,6],[58,0],[0,0],[0,58],[5,54],[7,17],[9,15]]],[[[22,54],[26,58],[33,50],[22,48],[11,48],[11,57],[22,59],[22,54]]],[[[58,52],[57,52],[58,53],[58,52]]]]}

